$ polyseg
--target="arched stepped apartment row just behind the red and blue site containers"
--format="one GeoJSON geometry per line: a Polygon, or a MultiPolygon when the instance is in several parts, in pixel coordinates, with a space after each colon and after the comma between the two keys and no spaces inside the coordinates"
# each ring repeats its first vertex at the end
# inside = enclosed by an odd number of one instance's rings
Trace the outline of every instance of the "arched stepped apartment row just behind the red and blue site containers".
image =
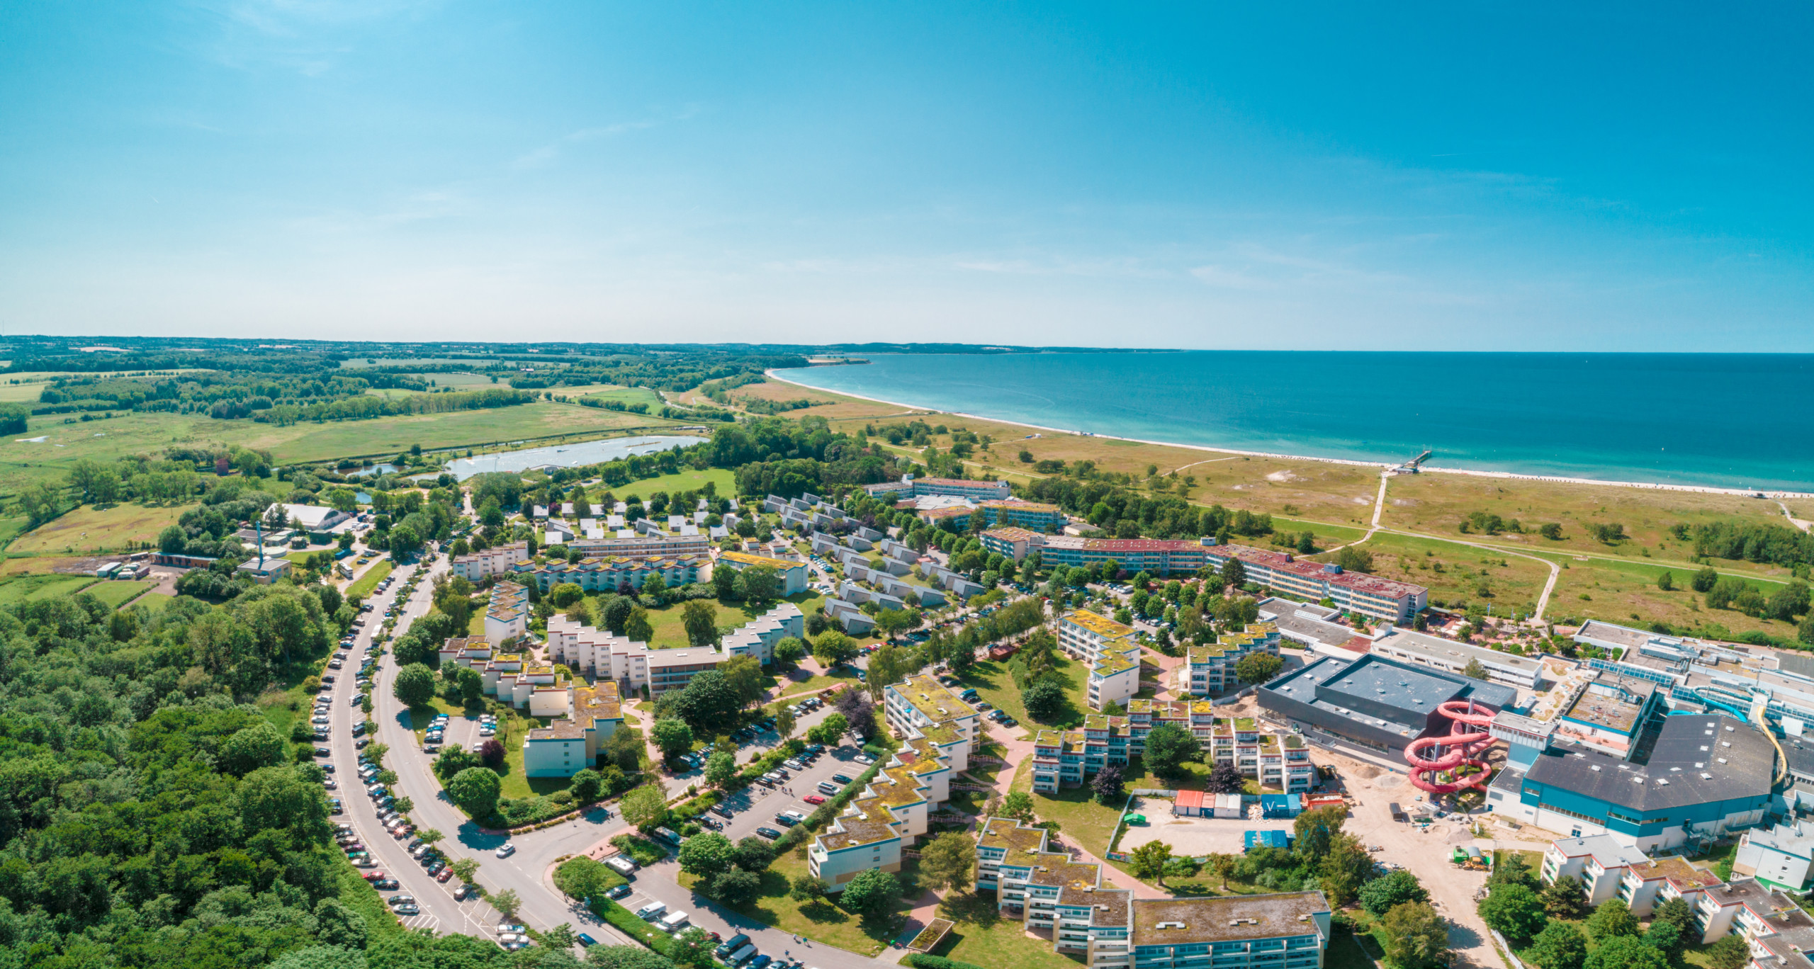
{"type": "Polygon", "coordinates": [[[1172,724],[1194,735],[1217,764],[1230,764],[1266,788],[1308,791],[1317,782],[1304,739],[1261,728],[1253,719],[1215,717],[1206,700],[1130,700],[1126,717],[1094,713],[1083,729],[1041,729],[1034,737],[1032,789],[1054,795],[1105,766],[1126,766],[1146,751],[1146,735],[1172,724]]]}

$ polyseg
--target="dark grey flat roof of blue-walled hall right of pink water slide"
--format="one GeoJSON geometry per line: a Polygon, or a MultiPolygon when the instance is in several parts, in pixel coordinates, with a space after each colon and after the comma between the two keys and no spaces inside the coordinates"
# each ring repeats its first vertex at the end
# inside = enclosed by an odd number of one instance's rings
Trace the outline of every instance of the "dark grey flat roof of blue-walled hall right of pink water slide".
{"type": "Polygon", "coordinates": [[[1765,797],[1774,766],[1774,744],[1751,724],[1723,713],[1694,713],[1663,720],[1649,764],[1556,744],[1531,764],[1526,778],[1634,811],[1663,811],[1765,797]]]}

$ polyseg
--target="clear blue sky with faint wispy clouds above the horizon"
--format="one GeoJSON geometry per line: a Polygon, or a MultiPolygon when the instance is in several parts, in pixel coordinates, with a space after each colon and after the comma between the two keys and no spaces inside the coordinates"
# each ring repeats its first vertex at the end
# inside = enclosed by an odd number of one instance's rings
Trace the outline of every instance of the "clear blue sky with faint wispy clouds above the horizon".
{"type": "Polygon", "coordinates": [[[1814,352],[1807,7],[1204,7],[13,4],[0,330],[1814,352]]]}

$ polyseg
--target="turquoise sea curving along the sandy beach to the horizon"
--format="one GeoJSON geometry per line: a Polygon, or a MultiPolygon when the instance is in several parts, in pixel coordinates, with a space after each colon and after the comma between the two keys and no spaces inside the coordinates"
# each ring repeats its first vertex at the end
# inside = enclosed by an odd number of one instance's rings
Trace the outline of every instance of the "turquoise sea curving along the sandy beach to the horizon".
{"type": "Polygon", "coordinates": [[[1803,354],[882,354],[778,376],[936,410],[1312,457],[1814,492],[1803,354]]]}

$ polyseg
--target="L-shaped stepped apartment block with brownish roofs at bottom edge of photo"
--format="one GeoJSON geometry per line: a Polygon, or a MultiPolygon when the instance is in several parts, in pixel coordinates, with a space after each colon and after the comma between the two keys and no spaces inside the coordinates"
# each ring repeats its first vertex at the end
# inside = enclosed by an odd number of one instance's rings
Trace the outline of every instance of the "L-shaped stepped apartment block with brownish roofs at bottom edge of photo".
{"type": "Polygon", "coordinates": [[[1052,851],[1043,827],[985,818],[976,887],[1005,918],[1047,929],[1052,949],[1092,969],[1321,969],[1330,904],[1321,891],[1223,898],[1134,898],[1101,866],[1052,851]]]}

